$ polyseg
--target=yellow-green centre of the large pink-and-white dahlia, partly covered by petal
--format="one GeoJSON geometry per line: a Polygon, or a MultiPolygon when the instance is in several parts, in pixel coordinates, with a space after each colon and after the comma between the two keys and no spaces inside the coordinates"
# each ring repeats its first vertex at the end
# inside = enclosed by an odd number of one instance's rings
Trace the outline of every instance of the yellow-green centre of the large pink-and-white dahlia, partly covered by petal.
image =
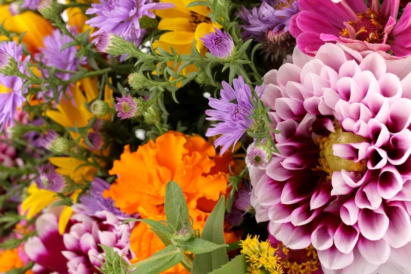
{"type": "Polygon", "coordinates": [[[334,171],[365,171],[366,160],[354,162],[334,155],[334,144],[349,144],[363,142],[366,140],[362,136],[350,132],[343,132],[340,127],[336,127],[336,132],[331,132],[328,136],[321,136],[318,139],[320,147],[321,169],[326,173],[332,174],[334,171]]]}

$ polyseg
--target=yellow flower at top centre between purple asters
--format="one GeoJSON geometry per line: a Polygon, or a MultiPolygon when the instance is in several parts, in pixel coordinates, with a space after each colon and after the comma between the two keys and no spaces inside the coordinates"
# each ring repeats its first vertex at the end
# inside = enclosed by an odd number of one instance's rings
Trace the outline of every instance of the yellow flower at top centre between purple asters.
{"type": "MultiPolygon", "coordinates": [[[[206,54],[206,47],[200,40],[205,34],[214,32],[214,27],[220,28],[220,25],[212,23],[207,16],[210,10],[203,5],[186,8],[188,4],[195,0],[160,0],[163,3],[173,3],[175,8],[166,10],[156,10],[155,14],[160,16],[162,20],[158,24],[158,29],[167,30],[160,36],[159,40],[153,42],[154,49],[161,47],[165,51],[171,53],[171,47],[177,51],[179,55],[191,54],[192,40],[195,40],[197,50],[202,54],[206,54]]],[[[168,64],[172,66],[172,64],[168,64]]],[[[195,64],[186,66],[182,70],[182,75],[197,71],[195,64]]]]}

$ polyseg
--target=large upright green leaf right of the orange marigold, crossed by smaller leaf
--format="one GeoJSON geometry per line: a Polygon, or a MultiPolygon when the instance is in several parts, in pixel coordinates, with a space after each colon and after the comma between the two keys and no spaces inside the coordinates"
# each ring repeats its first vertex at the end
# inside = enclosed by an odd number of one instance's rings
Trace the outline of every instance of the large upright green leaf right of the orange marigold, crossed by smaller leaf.
{"type": "MultiPolygon", "coordinates": [[[[209,240],[217,245],[223,245],[224,242],[224,213],[225,197],[221,196],[219,202],[212,210],[210,216],[204,225],[201,239],[209,240]]],[[[195,256],[192,263],[191,274],[206,274],[214,269],[219,269],[222,265],[227,264],[228,256],[225,248],[216,249],[210,253],[199,254],[195,256]]]]}

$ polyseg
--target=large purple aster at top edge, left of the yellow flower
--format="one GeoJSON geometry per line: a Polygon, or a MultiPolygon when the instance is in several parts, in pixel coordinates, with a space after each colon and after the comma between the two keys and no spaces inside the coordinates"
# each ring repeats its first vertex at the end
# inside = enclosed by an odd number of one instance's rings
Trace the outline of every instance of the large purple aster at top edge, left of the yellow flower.
{"type": "Polygon", "coordinates": [[[86,21],[86,24],[99,29],[92,36],[109,31],[135,42],[142,36],[138,22],[142,16],[155,18],[153,10],[174,6],[172,3],[149,3],[147,0],[101,0],[100,3],[93,3],[92,8],[86,11],[86,14],[97,15],[86,21]]]}

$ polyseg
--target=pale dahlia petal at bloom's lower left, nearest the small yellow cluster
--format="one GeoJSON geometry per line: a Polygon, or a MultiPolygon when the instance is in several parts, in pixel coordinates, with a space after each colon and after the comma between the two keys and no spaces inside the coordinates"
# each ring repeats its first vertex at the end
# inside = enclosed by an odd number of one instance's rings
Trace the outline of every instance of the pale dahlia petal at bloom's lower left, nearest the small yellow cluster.
{"type": "Polygon", "coordinates": [[[291,223],[284,223],[275,238],[290,249],[305,249],[311,245],[310,225],[295,227],[291,223]]]}

